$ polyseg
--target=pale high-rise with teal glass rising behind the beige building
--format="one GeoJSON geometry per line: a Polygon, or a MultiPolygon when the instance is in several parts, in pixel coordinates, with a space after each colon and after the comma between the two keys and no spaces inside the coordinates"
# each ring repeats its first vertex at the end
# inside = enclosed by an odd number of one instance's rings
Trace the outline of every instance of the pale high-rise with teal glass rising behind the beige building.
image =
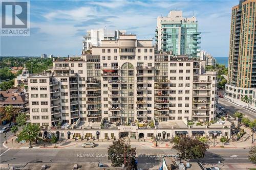
{"type": "Polygon", "coordinates": [[[198,57],[199,34],[195,16],[183,17],[182,11],[170,11],[166,17],[157,17],[155,36],[158,51],[198,57]]]}

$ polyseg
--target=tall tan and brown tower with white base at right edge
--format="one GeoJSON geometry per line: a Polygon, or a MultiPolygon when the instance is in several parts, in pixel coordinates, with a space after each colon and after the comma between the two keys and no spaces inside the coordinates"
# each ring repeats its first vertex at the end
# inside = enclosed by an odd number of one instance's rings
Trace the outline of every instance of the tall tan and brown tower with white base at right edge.
{"type": "Polygon", "coordinates": [[[255,0],[240,1],[232,8],[226,92],[236,100],[252,96],[256,88],[255,20],[255,0]]]}

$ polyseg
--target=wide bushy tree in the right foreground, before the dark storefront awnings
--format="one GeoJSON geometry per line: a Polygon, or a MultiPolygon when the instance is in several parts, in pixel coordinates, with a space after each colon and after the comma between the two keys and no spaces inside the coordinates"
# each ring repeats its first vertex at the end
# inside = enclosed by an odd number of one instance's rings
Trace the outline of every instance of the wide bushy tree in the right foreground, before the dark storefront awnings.
{"type": "Polygon", "coordinates": [[[193,139],[188,136],[175,137],[171,140],[174,144],[173,149],[178,151],[180,159],[200,159],[205,156],[209,145],[199,139],[193,139]]]}

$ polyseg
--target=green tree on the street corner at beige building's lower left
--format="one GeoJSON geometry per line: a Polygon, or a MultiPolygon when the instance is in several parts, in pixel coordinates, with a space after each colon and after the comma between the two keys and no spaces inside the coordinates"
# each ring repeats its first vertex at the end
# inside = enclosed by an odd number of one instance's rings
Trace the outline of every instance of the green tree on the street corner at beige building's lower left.
{"type": "Polygon", "coordinates": [[[29,146],[32,148],[31,142],[36,141],[39,139],[39,133],[40,133],[40,128],[38,125],[35,124],[27,124],[24,126],[23,130],[20,131],[18,134],[18,140],[28,140],[29,141],[29,146]]]}

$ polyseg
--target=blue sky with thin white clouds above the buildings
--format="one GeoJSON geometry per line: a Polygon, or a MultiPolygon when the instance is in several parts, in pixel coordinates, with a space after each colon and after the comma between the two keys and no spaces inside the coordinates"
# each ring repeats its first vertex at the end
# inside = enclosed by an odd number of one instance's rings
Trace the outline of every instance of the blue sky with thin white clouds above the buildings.
{"type": "Polygon", "coordinates": [[[86,30],[126,30],[152,39],[156,18],[170,10],[195,15],[201,50],[228,57],[231,8],[236,1],[30,1],[30,36],[1,36],[1,56],[80,55],[86,30]]]}

